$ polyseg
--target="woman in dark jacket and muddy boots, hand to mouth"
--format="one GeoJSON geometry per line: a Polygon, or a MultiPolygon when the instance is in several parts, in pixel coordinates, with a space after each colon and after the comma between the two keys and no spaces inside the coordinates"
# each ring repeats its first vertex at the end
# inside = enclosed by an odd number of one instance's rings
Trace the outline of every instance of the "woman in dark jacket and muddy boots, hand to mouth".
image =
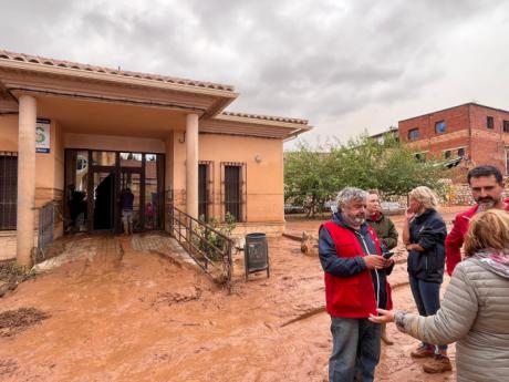
{"type": "MultiPolygon", "coordinates": [[[[408,251],[408,278],[420,316],[433,316],[440,308],[440,285],[444,281],[446,225],[435,209],[437,197],[428,187],[409,193],[409,207],[403,226],[403,242],[408,251]]],[[[427,373],[453,370],[447,345],[423,342],[413,358],[433,358],[423,366],[427,373]]]]}

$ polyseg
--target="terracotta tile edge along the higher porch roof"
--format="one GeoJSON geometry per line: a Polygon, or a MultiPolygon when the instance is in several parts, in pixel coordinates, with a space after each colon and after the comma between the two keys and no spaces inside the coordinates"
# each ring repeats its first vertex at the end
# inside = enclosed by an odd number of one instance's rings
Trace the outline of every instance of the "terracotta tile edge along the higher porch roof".
{"type": "Polygon", "coordinates": [[[148,74],[148,73],[141,73],[141,72],[131,72],[131,71],[123,71],[123,70],[115,70],[111,68],[103,68],[103,66],[94,66],[89,64],[82,64],[77,62],[64,61],[64,60],[54,60],[48,58],[41,58],[39,55],[29,55],[22,53],[12,53],[4,50],[0,50],[0,59],[11,60],[11,61],[21,61],[21,62],[30,62],[40,65],[48,65],[48,66],[60,66],[66,69],[74,69],[74,70],[83,70],[89,72],[95,73],[107,73],[113,75],[124,75],[128,78],[136,78],[136,79],[145,79],[152,81],[159,81],[159,82],[167,82],[172,84],[180,84],[187,86],[196,86],[196,87],[205,87],[205,89],[212,89],[212,90],[222,90],[228,92],[233,92],[235,89],[231,85],[224,85],[219,83],[212,82],[202,82],[202,81],[195,81],[195,80],[186,80],[186,79],[177,79],[167,75],[158,75],[158,74],[148,74]]]}

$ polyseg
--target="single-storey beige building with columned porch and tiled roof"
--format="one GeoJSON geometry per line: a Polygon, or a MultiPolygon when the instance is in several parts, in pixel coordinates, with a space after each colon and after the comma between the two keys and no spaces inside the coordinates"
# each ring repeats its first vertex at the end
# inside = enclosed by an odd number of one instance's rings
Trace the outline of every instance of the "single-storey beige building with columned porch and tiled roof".
{"type": "MultiPolygon", "coordinates": [[[[40,208],[54,235],[164,229],[165,204],[238,233],[283,228],[283,142],[304,120],[225,112],[232,86],[0,50],[0,259],[30,262],[40,208]]],[[[270,95],[269,95],[270,96],[270,95]]],[[[42,214],[41,214],[42,216],[42,214]]]]}

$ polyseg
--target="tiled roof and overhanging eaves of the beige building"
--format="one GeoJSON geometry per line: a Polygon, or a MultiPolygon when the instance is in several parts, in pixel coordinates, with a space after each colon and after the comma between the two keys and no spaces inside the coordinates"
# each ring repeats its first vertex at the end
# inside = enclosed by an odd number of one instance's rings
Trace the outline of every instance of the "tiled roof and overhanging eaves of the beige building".
{"type": "Polygon", "coordinates": [[[0,114],[17,113],[22,94],[75,133],[162,136],[185,128],[188,113],[199,115],[201,133],[290,140],[312,128],[305,120],[224,112],[238,96],[230,85],[0,50],[0,114]]]}

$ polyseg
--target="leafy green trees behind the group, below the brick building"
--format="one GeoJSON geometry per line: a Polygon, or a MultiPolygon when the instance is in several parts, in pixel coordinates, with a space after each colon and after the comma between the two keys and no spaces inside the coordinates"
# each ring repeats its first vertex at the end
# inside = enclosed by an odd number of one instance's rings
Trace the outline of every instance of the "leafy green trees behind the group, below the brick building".
{"type": "Polygon", "coordinates": [[[434,158],[417,161],[389,135],[382,142],[363,135],[344,145],[315,147],[301,142],[295,151],[284,153],[284,198],[307,206],[312,216],[346,186],[404,195],[417,186],[438,189],[438,180],[446,176],[434,158]]]}

